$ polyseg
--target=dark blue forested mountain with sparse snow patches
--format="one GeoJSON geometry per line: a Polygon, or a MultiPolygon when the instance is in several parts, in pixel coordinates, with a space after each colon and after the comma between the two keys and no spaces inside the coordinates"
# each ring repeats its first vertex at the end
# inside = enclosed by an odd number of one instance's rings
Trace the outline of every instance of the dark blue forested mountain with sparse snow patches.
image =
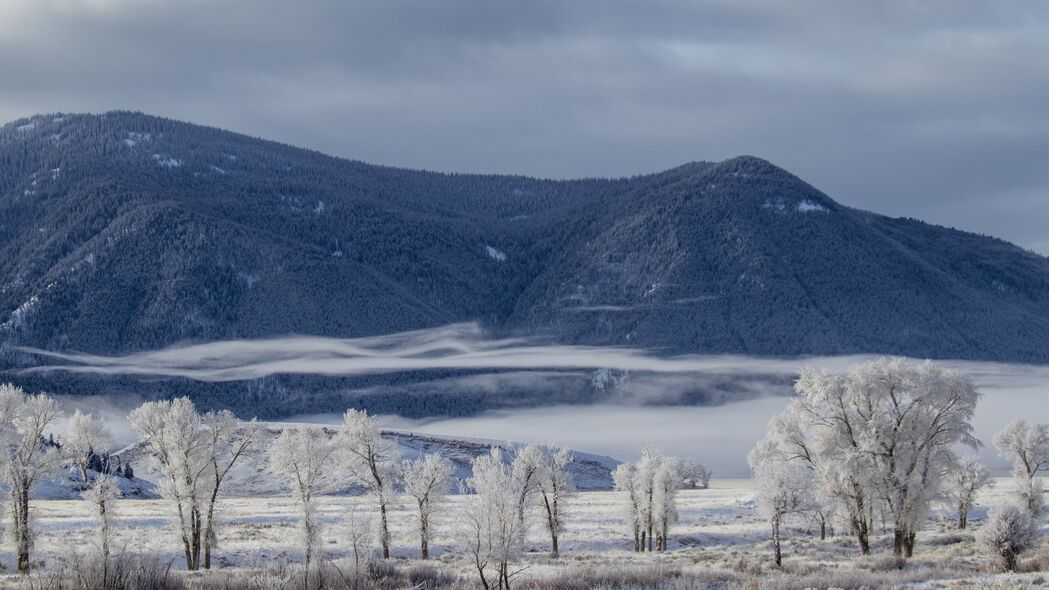
{"type": "Polygon", "coordinates": [[[16,346],[463,321],[665,355],[1044,362],[1049,259],[843,207],[750,156],[550,181],[373,166],[131,112],[0,128],[0,367],[40,362],[16,346]]]}

